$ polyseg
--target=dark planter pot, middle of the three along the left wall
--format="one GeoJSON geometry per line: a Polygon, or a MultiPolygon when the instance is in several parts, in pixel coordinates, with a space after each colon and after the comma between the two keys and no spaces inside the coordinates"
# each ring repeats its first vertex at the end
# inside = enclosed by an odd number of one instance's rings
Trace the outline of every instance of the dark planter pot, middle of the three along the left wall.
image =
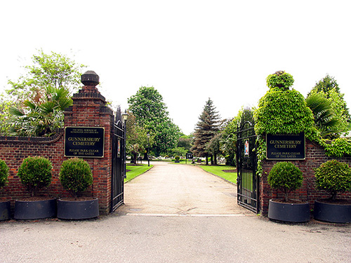
{"type": "Polygon", "coordinates": [[[15,201],[15,219],[32,220],[56,216],[56,198],[40,201],[15,201]]]}

